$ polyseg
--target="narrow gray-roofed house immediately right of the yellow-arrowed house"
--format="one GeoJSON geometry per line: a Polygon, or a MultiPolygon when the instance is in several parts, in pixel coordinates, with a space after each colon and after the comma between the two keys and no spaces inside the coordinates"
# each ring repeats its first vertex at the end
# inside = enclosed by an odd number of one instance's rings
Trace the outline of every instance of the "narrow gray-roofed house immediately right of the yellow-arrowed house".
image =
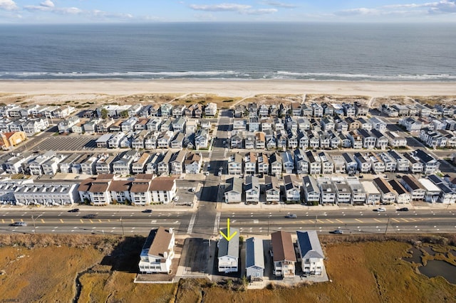
{"type": "Polygon", "coordinates": [[[246,240],[245,267],[247,279],[259,280],[264,275],[263,240],[248,238],[246,240]]]}

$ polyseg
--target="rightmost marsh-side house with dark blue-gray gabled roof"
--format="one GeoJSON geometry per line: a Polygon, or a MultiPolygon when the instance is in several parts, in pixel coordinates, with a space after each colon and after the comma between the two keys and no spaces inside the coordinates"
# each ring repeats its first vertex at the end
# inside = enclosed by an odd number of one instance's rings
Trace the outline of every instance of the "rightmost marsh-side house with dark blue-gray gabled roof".
{"type": "Polygon", "coordinates": [[[316,230],[297,230],[296,235],[298,235],[299,259],[301,259],[304,275],[323,275],[325,257],[316,230]]]}

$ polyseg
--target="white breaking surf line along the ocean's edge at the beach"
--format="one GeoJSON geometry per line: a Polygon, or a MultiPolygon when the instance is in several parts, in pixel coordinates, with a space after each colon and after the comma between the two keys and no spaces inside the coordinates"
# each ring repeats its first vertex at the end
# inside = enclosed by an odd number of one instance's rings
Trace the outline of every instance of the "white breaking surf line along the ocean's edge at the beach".
{"type": "Polygon", "coordinates": [[[173,71],[173,72],[113,72],[113,73],[81,73],[81,72],[0,72],[4,80],[65,80],[65,79],[278,79],[278,80],[347,80],[347,81],[454,81],[456,75],[422,74],[422,75],[368,75],[350,73],[299,73],[293,71],[252,72],[235,70],[207,71],[173,71]]]}

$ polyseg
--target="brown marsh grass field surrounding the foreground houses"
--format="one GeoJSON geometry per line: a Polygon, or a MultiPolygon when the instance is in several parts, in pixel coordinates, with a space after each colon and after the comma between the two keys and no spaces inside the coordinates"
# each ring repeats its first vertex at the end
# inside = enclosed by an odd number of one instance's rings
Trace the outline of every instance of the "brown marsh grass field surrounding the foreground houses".
{"type": "Polygon", "coordinates": [[[401,260],[410,243],[432,245],[435,256],[456,265],[455,235],[321,236],[331,282],[245,290],[242,283],[208,280],[135,284],[142,237],[0,235],[0,299],[71,302],[456,302],[456,286],[427,278],[401,260]],[[417,240],[423,241],[423,243],[417,240]],[[432,243],[432,244],[428,244],[432,243]]]}

